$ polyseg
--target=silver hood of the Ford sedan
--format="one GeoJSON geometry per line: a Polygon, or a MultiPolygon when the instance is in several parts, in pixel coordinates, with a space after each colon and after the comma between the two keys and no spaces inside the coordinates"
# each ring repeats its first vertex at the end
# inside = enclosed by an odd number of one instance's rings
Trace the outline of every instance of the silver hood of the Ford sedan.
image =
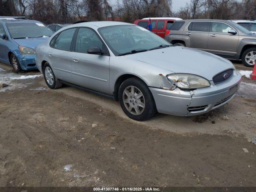
{"type": "Polygon", "coordinates": [[[234,65],[219,56],[182,46],[161,48],[147,52],[126,55],[126,58],[146,62],[174,73],[188,73],[208,80],[234,65]]]}

